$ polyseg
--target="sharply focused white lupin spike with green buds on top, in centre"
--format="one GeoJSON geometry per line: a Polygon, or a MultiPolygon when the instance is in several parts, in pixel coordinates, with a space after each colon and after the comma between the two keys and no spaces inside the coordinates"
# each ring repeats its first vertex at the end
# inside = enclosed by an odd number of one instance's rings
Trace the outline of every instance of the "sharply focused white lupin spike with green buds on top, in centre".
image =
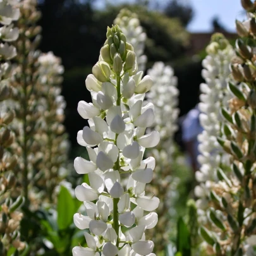
{"type": "Polygon", "coordinates": [[[90,160],[76,157],[74,162],[76,172],[88,174],[90,181],[90,185],[76,187],[75,195],[84,203],[87,216],[77,213],[74,222],[90,233],[85,233],[88,248],[73,248],[73,256],[99,252],[104,256],[154,256],[154,243],[145,239],[145,230],[157,223],[157,214],[152,211],[159,198],[145,195],[145,185],[152,180],[155,159],[143,160],[145,148],[159,142],[157,131],[144,135],[154,123],[154,105],[143,106],[152,80],[137,72],[133,46],[117,25],[108,28],[92,73],[85,81],[92,103],[78,103],[78,113],[88,119],[90,127],[85,126],[77,135],[90,160]],[[121,184],[127,175],[124,187],[121,184]],[[125,227],[130,229],[123,233],[125,227]]]}

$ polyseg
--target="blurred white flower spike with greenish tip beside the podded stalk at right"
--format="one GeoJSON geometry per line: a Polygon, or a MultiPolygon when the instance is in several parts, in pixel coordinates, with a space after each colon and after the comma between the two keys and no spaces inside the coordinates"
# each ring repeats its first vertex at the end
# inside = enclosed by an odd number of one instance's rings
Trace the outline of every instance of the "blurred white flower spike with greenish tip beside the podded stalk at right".
{"type": "Polygon", "coordinates": [[[204,131],[198,135],[200,144],[198,150],[198,162],[200,171],[195,173],[200,186],[196,186],[195,195],[197,207],[207,207],[207,196],[212,184],[216,181],[215,169],[220,164],[229,165],[229,157],[222,150],[217,142],[217,137],[221,136],[222,116],[221,107],[228,107],[228,100],[231,93],[227,89],[229,75],[229,64],[235,55],[233,47],[221,34],[215,34],[212,42],[207,47],[207,57],[202,62],[204,70],[202,76],[205,83],[200,85],[202,94],[200,95],[199,109],[200,123],[204,131]]]}

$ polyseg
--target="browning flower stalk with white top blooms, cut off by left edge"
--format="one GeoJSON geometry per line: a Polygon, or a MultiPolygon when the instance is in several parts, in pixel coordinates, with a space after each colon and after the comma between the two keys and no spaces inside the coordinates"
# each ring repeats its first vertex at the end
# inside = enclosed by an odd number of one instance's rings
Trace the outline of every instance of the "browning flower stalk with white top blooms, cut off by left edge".
{"type": "Polygon", "coordinates": [[[20,11],[15,8],[15,1],[1,1],[0,23],[2,27],[0,43],[0,254],[10,253],[16,248],[22,250],[25,243],[20,241],[19,226],[22,214],[18,207],[23,204],[23,197],[15,195],[16,177],[13,169],[16,166],[16,155],[10,146],[15,135],[10,124],[15,118],[13,109],[6,107],[6,101],[11,98],[13,88],[10,84],[10,59],[16,56],[16,48],[11,45],[18,38],[18,28],[13,27],[13,21],[18,20],[20,11]]]}

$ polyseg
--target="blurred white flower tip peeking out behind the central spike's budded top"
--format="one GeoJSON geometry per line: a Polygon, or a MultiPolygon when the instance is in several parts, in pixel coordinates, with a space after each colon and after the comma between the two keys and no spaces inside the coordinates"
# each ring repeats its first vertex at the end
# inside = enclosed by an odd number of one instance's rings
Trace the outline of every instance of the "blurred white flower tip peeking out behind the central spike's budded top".
{"type": "Polygon", "coordinates": [[[119,15],[114,20],[114,24],[121,28],[123,34],[126,35],[127,42],[133,46],[137,56],[138,71],[145,71],[147,56],[143,55],[143,52],[147,34],[143,32],[138,16],[136,13],[131,13],[128,9],[121,9],[119,15]]]}

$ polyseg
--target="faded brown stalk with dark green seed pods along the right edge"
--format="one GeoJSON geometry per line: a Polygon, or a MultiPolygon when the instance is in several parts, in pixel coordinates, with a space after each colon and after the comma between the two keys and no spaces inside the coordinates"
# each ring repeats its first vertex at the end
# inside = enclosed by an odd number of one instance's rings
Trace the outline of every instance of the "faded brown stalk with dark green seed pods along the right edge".
{"type": "MultiPolygon", "coordinates": [[[[219,166],[217,181],[210,192],[212,220],[210,231],[200,233],[216,255],[253,255],[256,239],[255,210],[255,18],[256,6],[241,1],[248,11],[248,20],[236,21],[238,35],[236,57],[231,61],[233,80],[228,83],[233,94],[221,113],[222,137],[217,140],[231,158],[231,171],[219,166]]],[[[212,254],[214,254],[212,252],[212,254]]]]}

